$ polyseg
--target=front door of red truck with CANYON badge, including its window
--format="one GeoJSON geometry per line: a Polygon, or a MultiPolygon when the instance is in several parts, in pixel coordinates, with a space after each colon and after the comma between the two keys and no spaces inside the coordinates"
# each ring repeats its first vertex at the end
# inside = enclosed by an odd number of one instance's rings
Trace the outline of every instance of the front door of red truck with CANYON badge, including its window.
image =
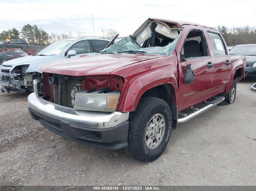
{"type": "Polygon", "coordinates": [[[180,52],[180,57],[187,60],[179,63],[179,110],[182,110],[201,102],[214,93],[214,64],[209,55],[205,33],[201,29],[188,31],[180,52]],[[184,68],[188,64],[191,64],[195,74],[195,80],[191,84],[184,83],[184,68]]]}

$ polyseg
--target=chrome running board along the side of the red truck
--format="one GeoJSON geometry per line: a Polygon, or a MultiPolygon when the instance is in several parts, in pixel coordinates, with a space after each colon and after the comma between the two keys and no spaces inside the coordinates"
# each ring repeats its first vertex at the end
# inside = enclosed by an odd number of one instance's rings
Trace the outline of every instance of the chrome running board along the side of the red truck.
{"type": "Polygon", "coordinates": [[[224,100],[225,100],[225,97],[223,97],[223,96],[218,96],[218,97],[217,97],[217,96],[216,96],[216,99],[215,99],[215,100],[213,100],[213,101],[211,101],[211,102],[205,102],[205,103],[207,103],[206,106],[204,106],[204,107],[202,107],[202,108],[200,108],[200,109],[198,109],[198,110],[195,110],[195,111],[193,111],[192,113],[189,113],[188,115],[185,115],[185,116],[182,117],[182,118],[179,118],[179,119],[178,119],[178,123],[185,123],[185,122],[187,122],[188,120],[194,118],[195,116],[198,116],[199,114],[201,114],[201,113],[207,111],[207,110],[210,109],[211,107],[216,106],[217,104],[221,103],[221,102],[224,101],[224,100]]]}

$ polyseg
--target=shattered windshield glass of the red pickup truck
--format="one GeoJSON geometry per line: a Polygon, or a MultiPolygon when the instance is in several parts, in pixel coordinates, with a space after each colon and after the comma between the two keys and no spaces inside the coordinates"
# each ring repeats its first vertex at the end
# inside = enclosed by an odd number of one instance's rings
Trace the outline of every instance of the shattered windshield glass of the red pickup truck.
{"type": "Polygon", "coordinates": [[[181,32],[178,37],[166,46],[152,46],[147,48],[141,48],[131,36],[126,37],[117,43],[101,50],[99,53],[110,53],[110,54],[147,54],[147,55],[170,55],[181,36],[181,32]]]}

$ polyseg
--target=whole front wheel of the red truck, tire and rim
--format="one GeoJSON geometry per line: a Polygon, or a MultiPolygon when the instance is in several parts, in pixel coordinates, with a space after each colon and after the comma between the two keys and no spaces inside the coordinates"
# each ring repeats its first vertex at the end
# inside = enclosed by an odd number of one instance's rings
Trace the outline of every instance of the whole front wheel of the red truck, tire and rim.
{"type": "Polygon", "coordinates": [[[141,162],[154,161],[168,144],[171,126],[169,105],[157,97],[142,97],[129,116],[127,153],[141,162]]]}

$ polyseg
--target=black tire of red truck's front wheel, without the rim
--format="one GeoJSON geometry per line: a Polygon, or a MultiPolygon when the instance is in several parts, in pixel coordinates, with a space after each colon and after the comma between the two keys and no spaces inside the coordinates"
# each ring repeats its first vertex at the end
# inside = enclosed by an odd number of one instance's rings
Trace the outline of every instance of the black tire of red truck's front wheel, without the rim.
{"type": "Polygon", "coordinates": [[[165,150],[172,127],[172,115],[169,105],[157,97],[142,97],[134,112],[129,116],[128,147],[125,153],[141,162],[151,162],[157,159],[165,150]],[[150,119],[155,114],[161,114],[165,119],[165,130],[159,145],[149,149],[145,143],[145,133],[150,119]]]}

